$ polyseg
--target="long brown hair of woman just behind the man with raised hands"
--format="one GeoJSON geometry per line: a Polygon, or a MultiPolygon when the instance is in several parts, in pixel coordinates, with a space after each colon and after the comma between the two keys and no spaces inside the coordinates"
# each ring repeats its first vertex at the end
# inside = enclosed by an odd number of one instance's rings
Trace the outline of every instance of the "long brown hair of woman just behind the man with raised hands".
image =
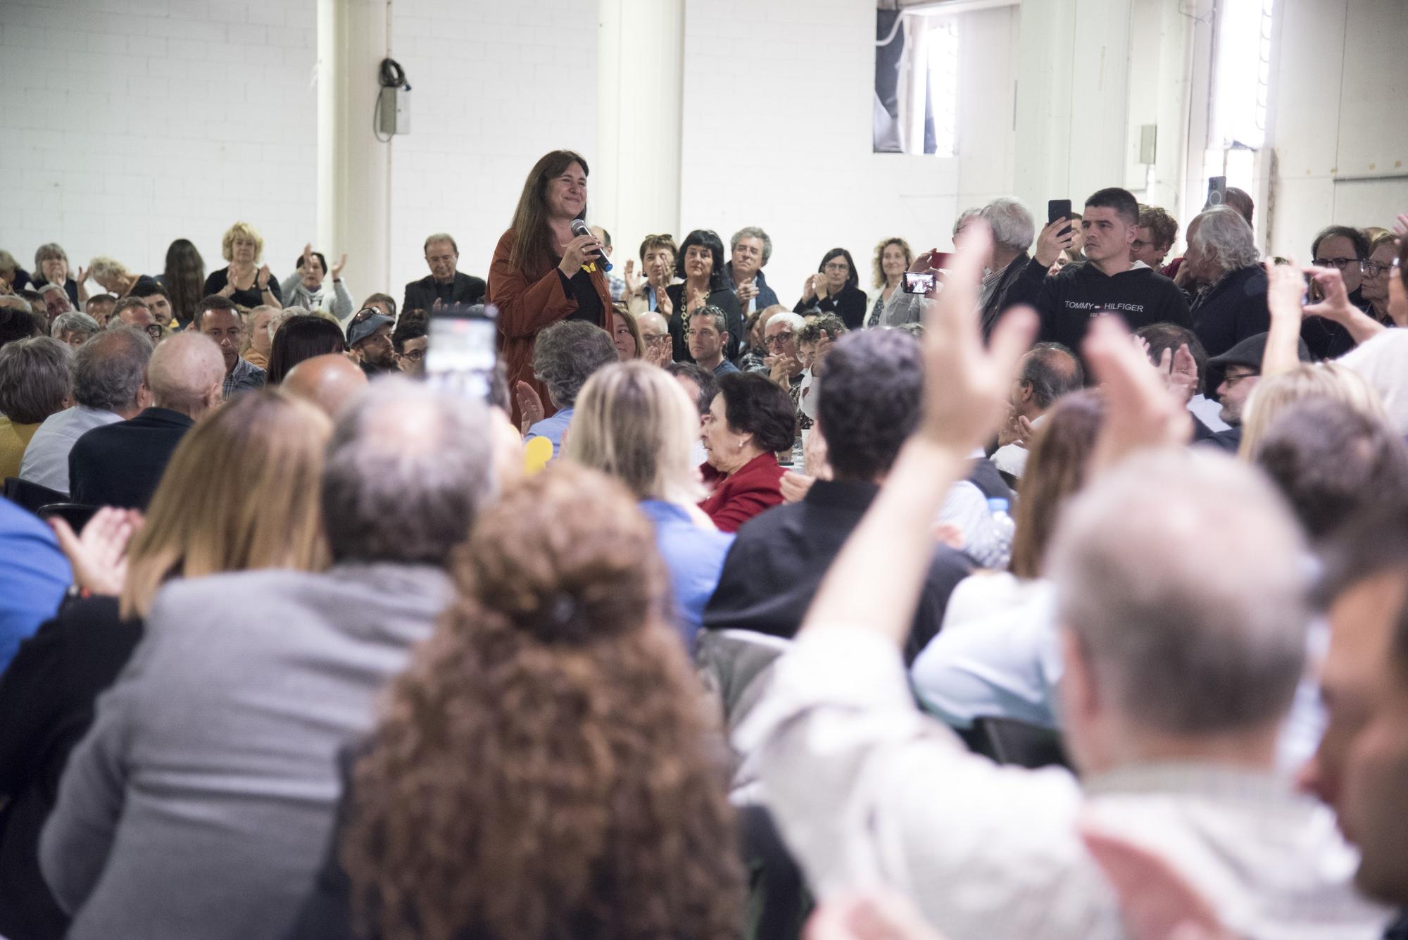
{"type": "Polygon", "coordinates": [[[1017,532],[1011,571],[1019,578],[1042,576],[1046,546],[1066,500],[1086,485],[1090,455],[1105,419],[1098,390],[1057,398],[1036,432],[1026,469],[1017,484],[1017,532]]]}

